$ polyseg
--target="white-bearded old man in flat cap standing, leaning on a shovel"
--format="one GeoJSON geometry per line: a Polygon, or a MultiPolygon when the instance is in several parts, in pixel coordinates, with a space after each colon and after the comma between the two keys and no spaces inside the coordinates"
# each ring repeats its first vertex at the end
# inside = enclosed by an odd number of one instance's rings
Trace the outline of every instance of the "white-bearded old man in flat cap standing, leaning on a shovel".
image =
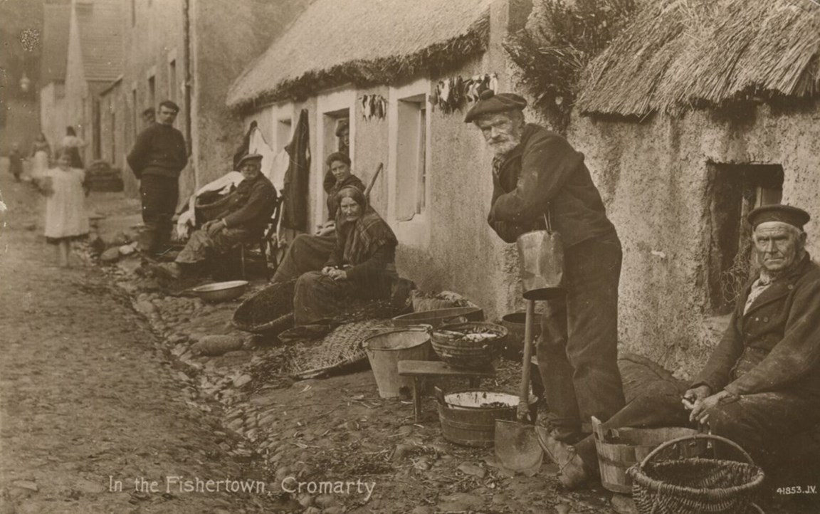
{"type": "Polygon", "coordinates": [[[544,229],[549,216],[564,243],[566,298],[549,300],[537,343],[551,437],[567,443],[624,405],[617,367],[617,289],[621,243],[604,202],[567,140],[524,121],[526,100],[487,90],[467,112],[494,152],[488,221],[514,243],[544,229]]]}

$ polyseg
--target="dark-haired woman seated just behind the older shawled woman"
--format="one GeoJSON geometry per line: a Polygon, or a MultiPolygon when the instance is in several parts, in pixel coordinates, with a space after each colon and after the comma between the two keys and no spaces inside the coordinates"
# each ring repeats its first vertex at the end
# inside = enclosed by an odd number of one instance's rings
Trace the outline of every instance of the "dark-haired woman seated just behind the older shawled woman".
{"type": "Polygon", "coordinates": [[[364,191],[362,180],[350,172],[350,157],[341,152],[334,152],[327,157],[326,163],[329,171],[324,187],[327,193],[328,221],[317,234],[300,234],[290,243],[285,258],[273,275],[274,284],[298,279],[307,271],[321,270],[321,266],[336,246],[335,219],[339,210],[336,194],[348,186],[364,191]]]}

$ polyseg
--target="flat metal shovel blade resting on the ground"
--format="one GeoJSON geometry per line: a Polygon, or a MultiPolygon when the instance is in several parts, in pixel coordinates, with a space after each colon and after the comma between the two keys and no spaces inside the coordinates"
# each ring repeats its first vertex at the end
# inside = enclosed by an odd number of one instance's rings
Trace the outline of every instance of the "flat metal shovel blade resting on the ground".
{"type": "Polygon", "coordinates": [[[535,475],[544,460],[533,425],[517,421],[495,421],[495,457],[510,471],[535,475]]]}

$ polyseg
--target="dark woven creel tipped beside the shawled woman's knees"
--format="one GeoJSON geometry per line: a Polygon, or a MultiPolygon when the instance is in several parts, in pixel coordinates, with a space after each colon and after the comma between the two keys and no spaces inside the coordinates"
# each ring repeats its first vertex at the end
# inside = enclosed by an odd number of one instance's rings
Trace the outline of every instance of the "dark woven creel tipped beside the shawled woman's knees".
{"type": "Polygon", "coordinates": [[[231,323],[239,330],[270,337],[294,325],[296,280],[262,289],[237,307],[231,323]]]}

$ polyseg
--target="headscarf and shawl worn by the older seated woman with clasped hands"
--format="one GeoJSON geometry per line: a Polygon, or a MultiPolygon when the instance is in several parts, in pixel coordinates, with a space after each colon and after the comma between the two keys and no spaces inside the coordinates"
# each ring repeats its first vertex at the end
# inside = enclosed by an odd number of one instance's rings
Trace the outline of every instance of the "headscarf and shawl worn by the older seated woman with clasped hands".
{"type": "Polygon", "coordinates": [[[342,198],[353,198],[362,207],[362,216],[353,222],[344,221],[341,208],[336,219],[338,237],[337,251],[341,250],[342,262],[356,266],[367,261],[382,245],[399,244],[393,230],[381,216],[367,203],[364,193],[356,187],[344,187],[336,193],[336,204],[341,206],[342,198]]]}

